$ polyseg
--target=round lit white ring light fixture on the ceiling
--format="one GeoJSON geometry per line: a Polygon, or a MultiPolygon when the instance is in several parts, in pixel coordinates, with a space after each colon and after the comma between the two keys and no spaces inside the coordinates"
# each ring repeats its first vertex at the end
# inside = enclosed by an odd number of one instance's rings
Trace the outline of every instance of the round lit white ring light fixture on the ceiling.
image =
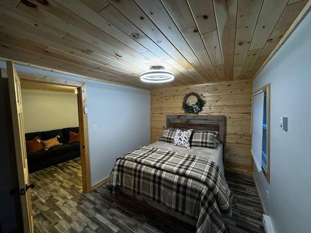
{"type": "Polygon", "coordinates": [[[165,83],[174,79],[174,74],[162,66],[150,67],[148,71],[140,74],[140,80],[148,83],[165,83]]]}

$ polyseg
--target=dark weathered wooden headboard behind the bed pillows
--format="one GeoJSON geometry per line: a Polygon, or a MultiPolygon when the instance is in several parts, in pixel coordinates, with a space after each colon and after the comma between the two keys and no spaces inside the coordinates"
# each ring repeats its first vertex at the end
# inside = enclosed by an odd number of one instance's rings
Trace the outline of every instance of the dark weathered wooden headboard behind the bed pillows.
{"type": "Polygon", "coordinates": [[[218,141],[225,142],[225,116],[166,115],[166,127],[218,131],[218,141]]]}

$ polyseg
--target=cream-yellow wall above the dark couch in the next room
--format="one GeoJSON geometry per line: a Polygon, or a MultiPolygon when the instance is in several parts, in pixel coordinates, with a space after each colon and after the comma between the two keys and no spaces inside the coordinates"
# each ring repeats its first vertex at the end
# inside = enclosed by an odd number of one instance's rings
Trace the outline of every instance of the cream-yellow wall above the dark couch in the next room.
{"type": "Polygon", "coordinates": [[[79,126],[74,93],[22,90],[25,133],[79,126]]]}

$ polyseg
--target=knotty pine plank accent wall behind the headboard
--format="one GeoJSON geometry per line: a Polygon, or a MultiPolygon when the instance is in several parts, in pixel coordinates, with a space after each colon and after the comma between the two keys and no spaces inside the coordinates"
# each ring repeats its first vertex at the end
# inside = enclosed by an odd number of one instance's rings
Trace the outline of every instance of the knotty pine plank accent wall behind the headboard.
{"type": "MultiPolygon", "coordinates": [[[[224,153],[225,171],[252,176],[253,159],[251,150],[251,107],[252,81],[230,81],[190,85],[176,88],[161,88],[151,91],[151,142],[159,140],[166,115],[185,114],[181,108],[185,95],[195,92],[206,101],[199,115],[225,115],[224,153]]],[[[190,104],[196,98],[188,98],[190,104]]]]}

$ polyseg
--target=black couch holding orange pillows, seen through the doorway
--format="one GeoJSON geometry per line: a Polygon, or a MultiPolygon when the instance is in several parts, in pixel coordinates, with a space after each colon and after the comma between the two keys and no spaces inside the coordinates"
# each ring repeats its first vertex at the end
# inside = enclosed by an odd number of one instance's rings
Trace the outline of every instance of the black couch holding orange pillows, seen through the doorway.
{"type": "Polygon", "coordinates": [[[49,150],[39,150],[35,153],[27,154],[28,172],[34,172],[80,157],[80,142],[68,143],[70,131],[79,133],[79,127],[25,133],[26,141],[32,140],[35,136],[38,136],[41,140],[48,140],[59,135],[60,138],[58,138],[58,141],[63,143],[62,145],[52,147],[49,150]]]}

